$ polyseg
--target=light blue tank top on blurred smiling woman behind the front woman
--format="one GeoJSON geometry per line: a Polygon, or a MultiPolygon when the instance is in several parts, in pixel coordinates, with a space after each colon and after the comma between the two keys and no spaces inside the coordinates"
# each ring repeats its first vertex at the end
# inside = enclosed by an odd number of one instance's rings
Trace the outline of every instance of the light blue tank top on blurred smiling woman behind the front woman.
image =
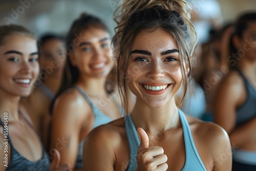
{"type": "MultiPolygon", "coordinates": [[[[92,102],[92,100],[89,98],[89,96],[78,86],[74,86],[77,91],[82,95],[82,97],[90,104],[93,115],[94,115],[94,123],[93,123],[93,127],[92,130],[102,124],[105,123],[109,123],[111,121],[113,121],[112,118],[110,118],[109,116],[105,115],[101,110],[99,110],[97,108],[97,106],[92,102]]],[[[114,99],[114,98],[113,98],[114,99]]],[[[116,103],[116,105],[118,106],[118,109],[120,111],[120,117],[122,117],[124,115],[124,112],[121,108],[120,105],[117,104],[117,102],[114,100],[114,102],[116,103]]],[[[83,147],[83,140],[81,142],[79,142],[78,145],[78,155],[77,155],[77,160],[76,160],[76,165],[75,168],[76,169],[81,169],[82,168],[82,147],[83,147]]]]}

